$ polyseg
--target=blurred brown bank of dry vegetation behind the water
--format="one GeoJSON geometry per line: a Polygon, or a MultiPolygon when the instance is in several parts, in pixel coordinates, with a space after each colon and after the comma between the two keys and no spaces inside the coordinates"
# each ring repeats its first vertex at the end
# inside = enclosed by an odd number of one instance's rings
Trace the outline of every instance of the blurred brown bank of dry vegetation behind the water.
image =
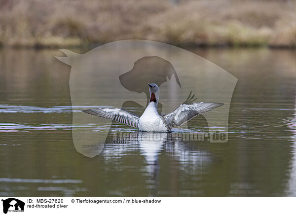
{"type": "Polygon", "coordinates": [[[0,0],[0,45],[296,47],[296,0],[0,0]]]}

